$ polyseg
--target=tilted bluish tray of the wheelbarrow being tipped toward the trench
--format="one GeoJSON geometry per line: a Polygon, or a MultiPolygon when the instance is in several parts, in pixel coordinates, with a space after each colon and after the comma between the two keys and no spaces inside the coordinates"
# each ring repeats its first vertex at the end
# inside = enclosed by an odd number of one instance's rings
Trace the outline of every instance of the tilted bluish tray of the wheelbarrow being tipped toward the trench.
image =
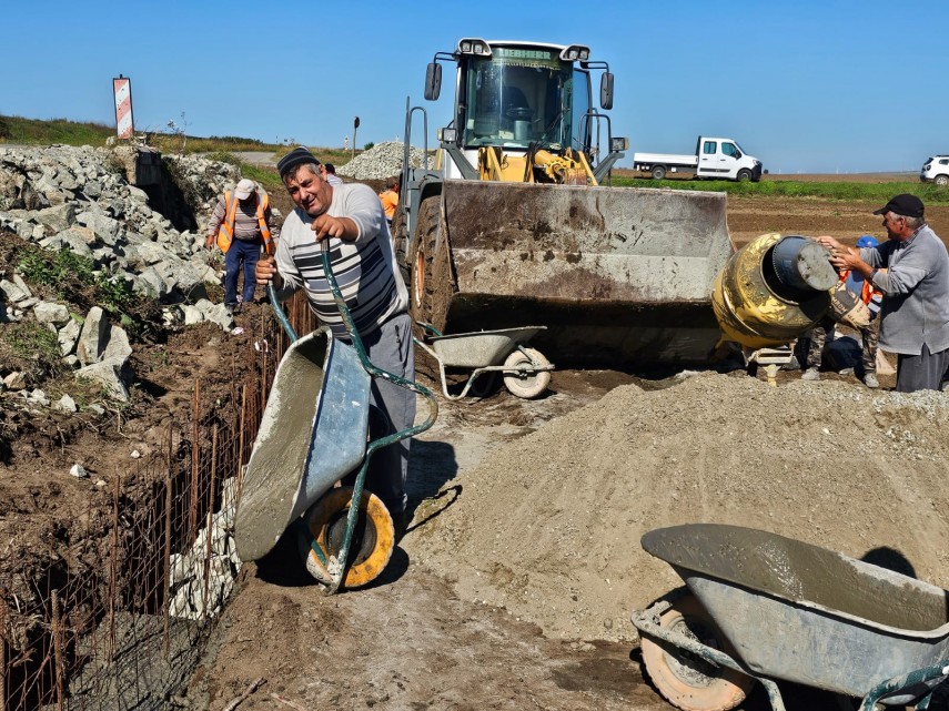
{"type": "Polygon", "coordinates": [[[242,560],[265,556],[291,521],[360,466],[371,380],[356,352],[326,327],[287,348],[241,481],[234,537],[242,560]]]}

